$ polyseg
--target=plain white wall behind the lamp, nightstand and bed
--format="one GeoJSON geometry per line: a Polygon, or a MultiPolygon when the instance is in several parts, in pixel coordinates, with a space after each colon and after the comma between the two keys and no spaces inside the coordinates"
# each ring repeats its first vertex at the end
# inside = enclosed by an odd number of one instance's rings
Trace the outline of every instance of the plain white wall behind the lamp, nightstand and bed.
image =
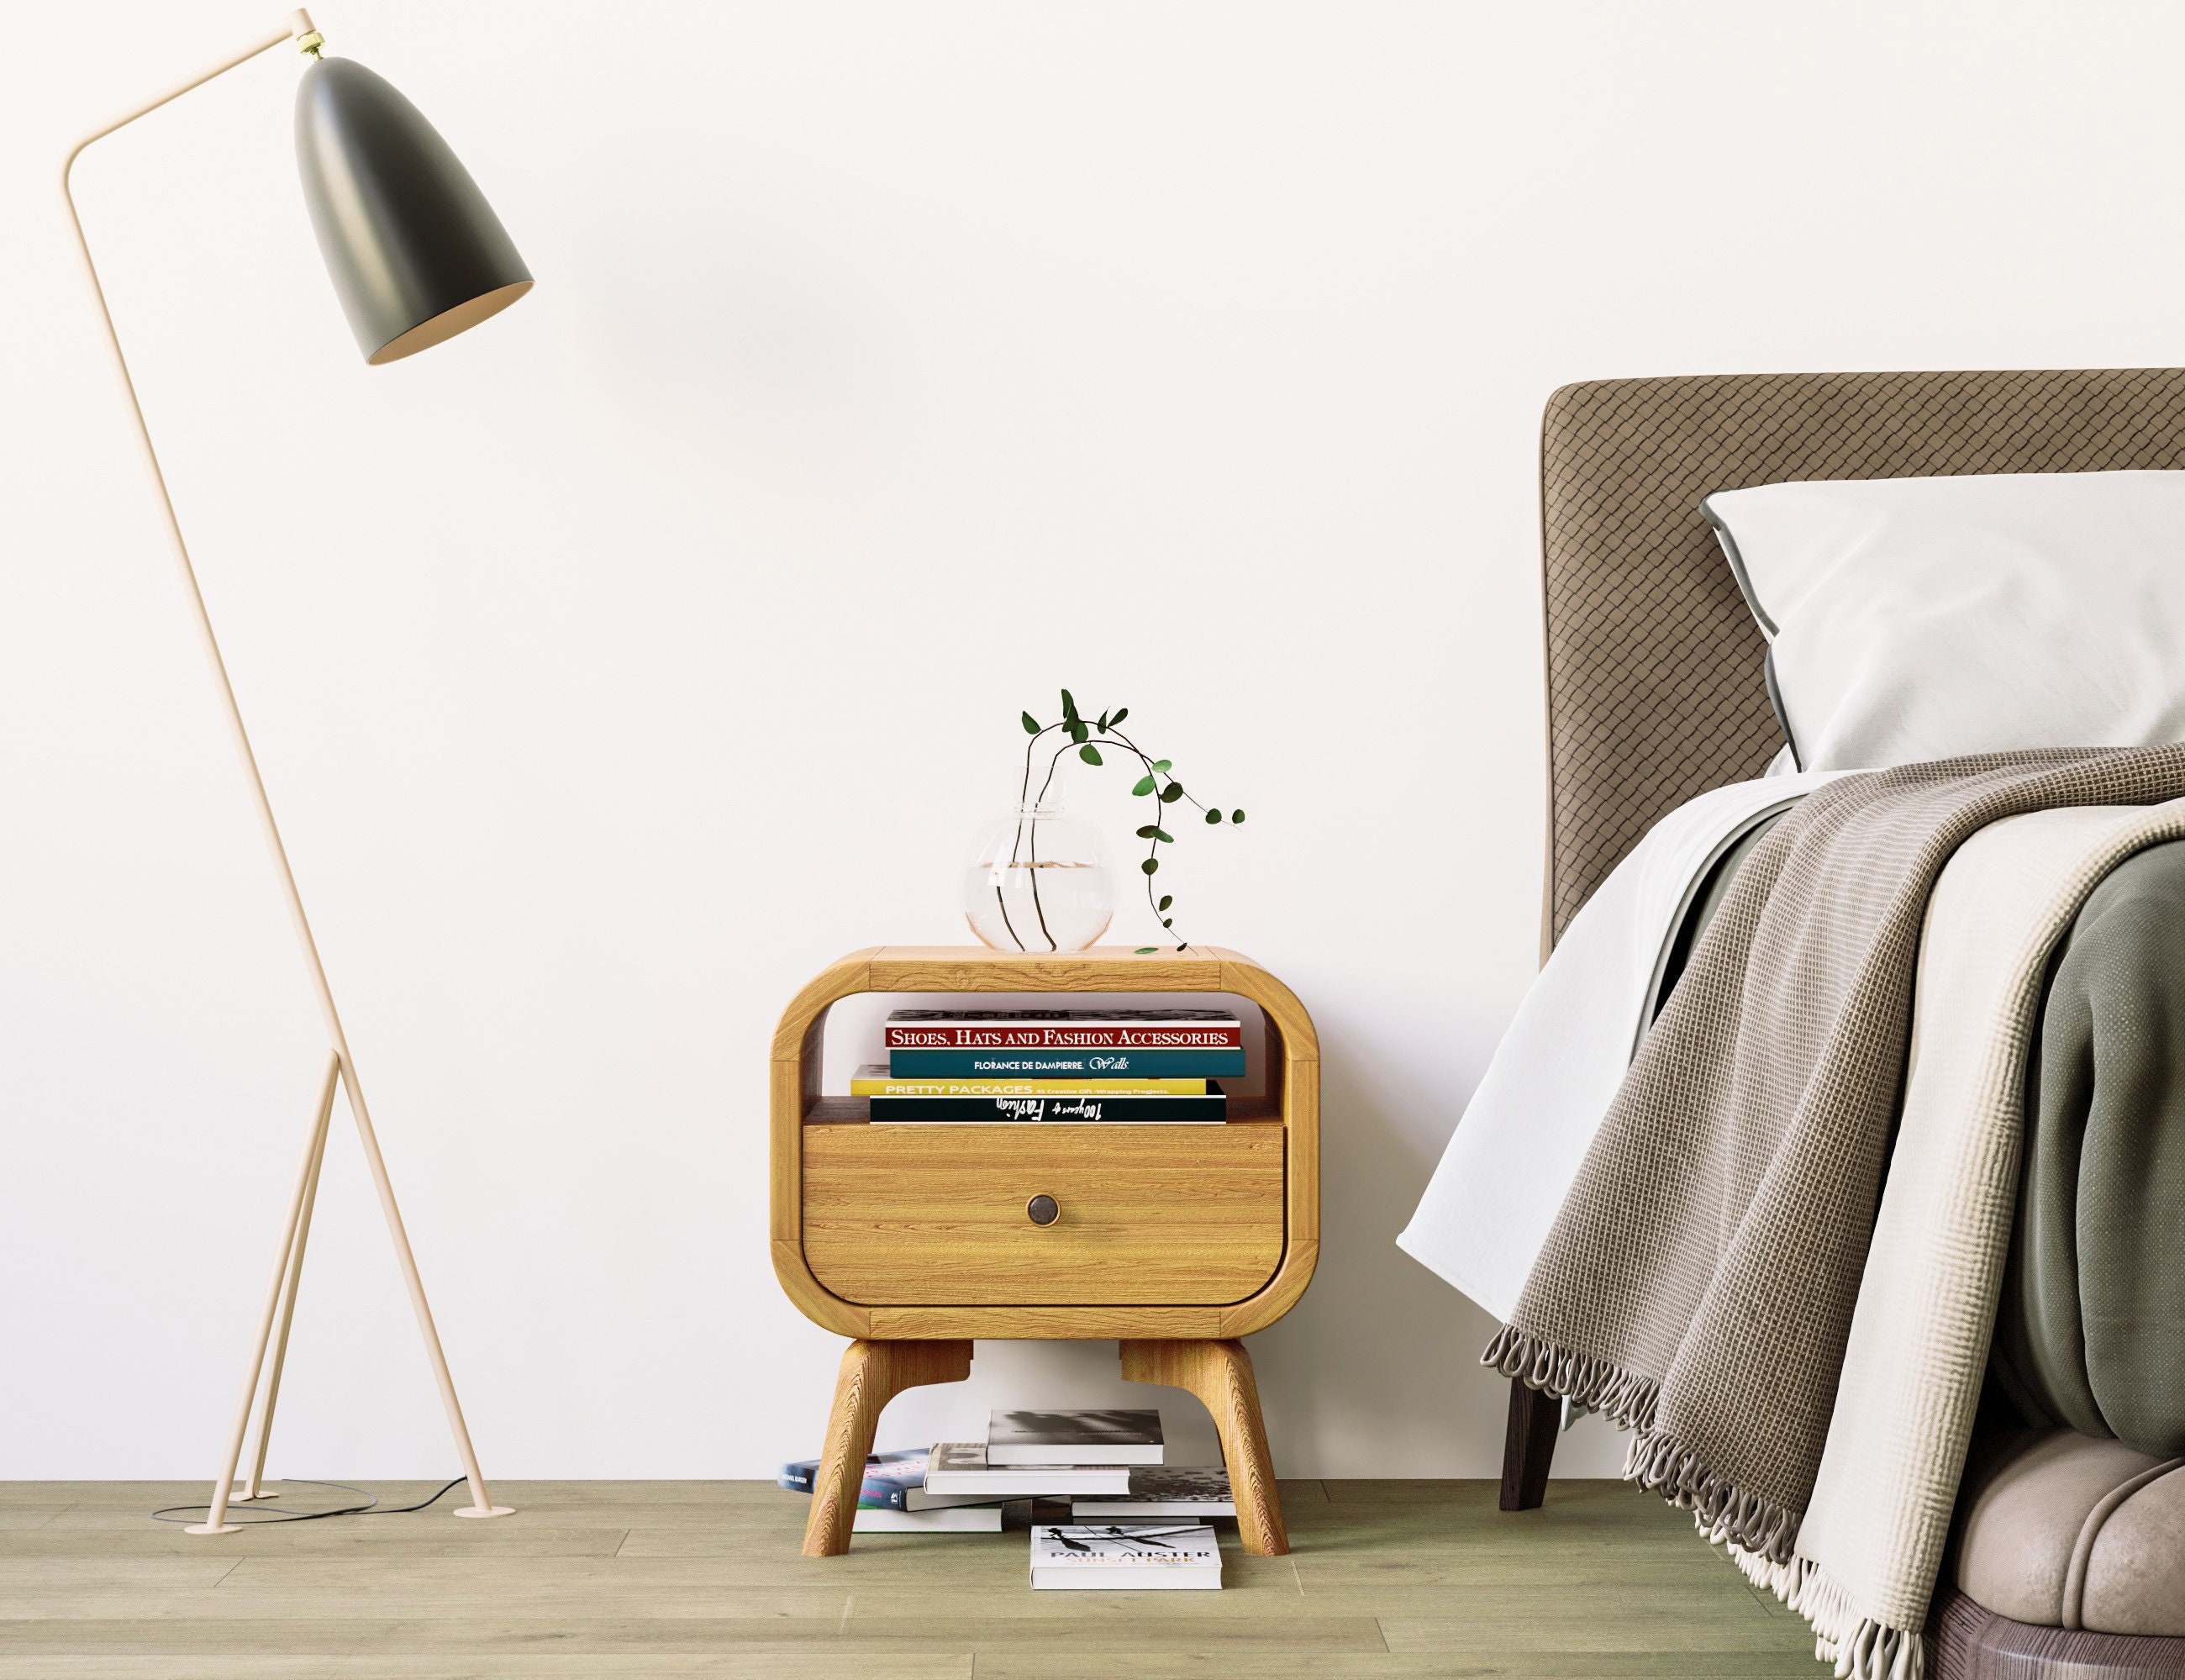
{"type": "MultiPolygon", "coordinates": [[[[210,1468],[321,1057],[50,179],[275,20],[0,15],[0,1477],[210,1468]]],[[[286,52],[79,179],[500,1475],[815,1448],[767,1033],[841,950],[964,937],[1060,684],[1252,813],[1178,850],[1182,928],[1320,1022],[1283,1470],[1492,1472],[1488,1324],[1390,1239],[1534,959],[1543,398],[2185,354],[2170,7],[319,22],[472,166],[520,308],[361,365],[286,52]]],[[[981,1348],[885,1433],[1123,1392],[981,1348]]],[[[347,1138],[284,1411],[280,1472],[450,1466],[347,1138]]]]}

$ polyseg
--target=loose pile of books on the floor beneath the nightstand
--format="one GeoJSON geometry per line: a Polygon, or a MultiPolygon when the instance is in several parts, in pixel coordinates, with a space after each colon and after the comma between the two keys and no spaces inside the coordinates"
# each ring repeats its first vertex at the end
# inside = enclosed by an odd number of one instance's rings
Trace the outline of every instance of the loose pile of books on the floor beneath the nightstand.
{"type": "MultiPolygon", "coordinates": [[[[988,1420],[983,1442],[942,1442],[924,1453],[874,1453],[865,1459],[865,1483],[859,1490],[857,1534],[874,1531],[957,1531],[999,1534],[1003,1505],[1020,1499],[1071,1501],[1073,1518],[1103,1518],[1090,1531],[1103,1536],[1130,1529],[1112,1518],[1235,1516],[1228,1472],[1165,1466],[1158,1411],[996,1411],[988,1420]]],[[[782,1466],[780,1486],[808,1494],[819,1472],[817,1459],[782,1466]]],[[[1053,1525],[1036,1525],[1034,1542],[1053,1525]]],[[[1158,1534],[1189,1534],[1158,1523],[1158,1534]]],[[[1064,1525],[1064,1534],[1077,1529],[1064,1525]]],[[[1206,1529],[1213,1547],[1213,1529],[1206,1529]]],[[[1053,1566],[1068,1580],[1038,1580],[1044,1569],[1034,1562],[1034,1586],[1195,1586],[1221,1584],[1219,1558],[1213,1582],[1204,1582],[1204,1560],[1191,1564],[1145,1562],[1167,1558],[1162,1547],[1141,1551],[1092,1549],[1079,1553],[1060,1545],[1064,1560],[1053,1566]],[[1112,1562],[1103,1569],[1071,1562],[1099,1555],[1112,1562]],[[1127,1562],[1141,1558],[1138,1564],[1127,1562]],[[1147,1571],[1160,1580],[1143,1580],[1147,1571]],[[1136,1571],[1136,1573],[1134,1573],[1136,1571]],[[1193,1575],[1191,1571],[1200,1571],[1193,1575]],[[1171,1580],[1173,1575],[1173,1580],[1171,1580]],[[1082,1577],[1082,1580],[1079,1580],[1082,1577]]]]}

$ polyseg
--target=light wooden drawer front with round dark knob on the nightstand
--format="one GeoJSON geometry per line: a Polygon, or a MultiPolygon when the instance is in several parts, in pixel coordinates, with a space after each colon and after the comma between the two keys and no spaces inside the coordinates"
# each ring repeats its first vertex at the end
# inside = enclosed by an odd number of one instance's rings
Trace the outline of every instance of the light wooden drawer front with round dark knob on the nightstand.
{"type": "Polygon", "coordinates": [[[861,1306],[1224,1306],[1283,1261],[1280,1125],[802,1134],[804,1261],[861,1306]]]}

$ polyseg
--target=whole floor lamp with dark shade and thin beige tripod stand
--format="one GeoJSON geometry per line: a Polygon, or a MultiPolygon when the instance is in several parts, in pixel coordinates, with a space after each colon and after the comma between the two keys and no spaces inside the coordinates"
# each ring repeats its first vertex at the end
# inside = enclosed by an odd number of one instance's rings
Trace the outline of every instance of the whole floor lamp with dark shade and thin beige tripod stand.
{"type": "Polygon", "coordinates": [[[210,1512],[188,1534],[240,1534],[245,1525],[227,1521],[229,1501],[273,1499],[262,1486],[267,1440],[273,1433],[273,1405],[280,1398],[280,1372],[288,1352],[288,1324],[295,1315],[295,1296],[304,1278],[304,1243],[310,1237],[310,1210],[319,1195],[319,1164],[326,1158],[326,1132],[334,1114],[336,1086],[347,1095],[350,1116],[356,1121],[356,1136],[365,1149],[365,1164],[371,1169],[380,1210],[387,1215],[387,1234],[393,1239],[395,1261],[402,1265],[402,1280],[409,1285],[411,1306],[417,1313],[417,1330],[424,1335],[426,1359],[433,1363],[439,1398],[448,1411],[448,1429],[454,1433],[454,1448],[463,1459],[463,1475],[470,1481],[472,1503],[454,1514],[509,1514],[509,1507],[496,1505],[485,1490],[485,1475],[479,1470],[479,1455],[470,1444],[470,1429],[463,1424],[463,1407],[454,1398],[454,1379],[448,1374],[448,1357],[441,1352],[439,1333],[433,1328],[433,1309],[426,1304],[417,1261],[411,1254],[409,1234],[402,1230],[402,1210],[395,1206],[387,1162],[380,1158],[378,1136],[371,1132],[371,1112],[365,1108],[365,1092],[356,1081],[356,1062],[350,1057],[350,1040],[341,1031],[334,992],[326,983],[326,966],[319,961],[319,946],[310,937],[304,898],[297,894],[288,852],[282,848],[280,826],[273,821],[264,778],[258,773],[258,758],[243,727],[243,712],[236,708],[236,690],[227,682],[221,644],[212,634],[212,618],[205,614],[205,596],[199,592],[197,572],[190,566],[190,548],[181,540],[175,502],[166,494],[166,478],[160,472],[160,457],[144,424],[144,409],[138,404],[129,363],[122,356],[122,341],[114,332],[114,315],[107,310],[98,269],[92,262],[92,247],[83,238],[83,221],[76,214],[76,201],[68,186],[76,157],[94,140],[135,122],[146,111],[157,111],[170,98],[179,98],[192,87],[201,87],[238,63],[247,63],[260,52],[271,52],[291,39],[310,59],[304,68],[295,103],[295,151],[297,168],[304,177],[304,201],[310,208],[310,223],[319,236],[319,251],[326,256],[328,273],[334,280],[334,293],[341,297],[365,360],[378,367],[380,363],[428,350],[489,315],[498,315],[531,291],[531,271],[524,269],[524,260],[500,227],[500,218],[494,216],[492,205],[485,203],[485,194],[479,192],[470,173],[448,151],[448,144],[435,133],[433,125],[424,120],[415,105],[361,63],[321,57],[319,48],[323,39],[310,26],[310,13],[304,11],[291,13],[288,24],[280,31],[249,42],[210,70],[190,76],[157,98],[118,116],[103,129],[87,133],[68,153],[68,162],[61,164],[61,199],[68,203],[68,225],[76,234],[83,273],[92,282],[92,299],[98,306],[98,323],[105,328],[107,347],[114,352],[114,371],[120,374],[129,417],[135,424],[135,439],[144,452],[144,470],[151,476],[168,542],[175,548],[175,564],[181,568],[184,594],[194,614],[205,662],[212,666],[212,682],[227,712],[227,725],[234,732],[236,756],[243,760],[245,780],[258,804],[258,821],[264,828],[267,850],[273,854],[273,872],[280,876],[282,894],[288,900],[288,918],[295,922],[295,937],[304,948],[304,966],[310,970],[310,983],[319,996],[319,1014],[326,1018],[328,1036],[326,1079],[319,1088],[310,1140],[304,1147],[304,1164],[297,1169],[295,1193],[288,1199],[288,1219],[282,1228],[273,1285],[267,1289],[264,1313],[258,1317],[258,1339],[251,1348],[243,1400],[236,1407],[234,1429],[227,1435],[218,1481],[212,1483],[210,1512]],[[271,1372],[267,1372],[269,1344],[273,1350],[271,1372]],[[264,1403],[258,1411],[256,1457],[249,1483],[236,1488],[236,1468],[243,1462],[243,1440],[249,1431],[251,1409],[258,1403],[260,1379],[264,1379],[264,1403]]]}

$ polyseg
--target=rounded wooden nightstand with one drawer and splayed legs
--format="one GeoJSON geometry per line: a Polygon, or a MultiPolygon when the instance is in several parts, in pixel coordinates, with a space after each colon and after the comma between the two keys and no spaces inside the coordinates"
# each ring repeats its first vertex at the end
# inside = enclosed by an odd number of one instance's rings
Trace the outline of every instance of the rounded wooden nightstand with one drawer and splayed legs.
{"type": "Polygon", "coordinates": [[[1287,985],[1213,946],[876,946],[782,1011],[771,1110],[773,1276],[813,1324],[852,1337],[806,1558],[850,1547],[881,1407],[970,1376],[972,1337],[1114,1337],[1123,1376],[1206,1403],[1245,1551],[1289,1551],[1239,1341],[1296,1304],[1320,1256],[1320,1040],[1287,985]],[[865,1099],[819,1092],[826,1011],[857,992],[1230,992],[1265,1014],[1267,1095],[1232,1097],[1219,1127],[874,1127],[865,1099]],[[1053,1223],[1027,1212],[1040,1195],[1062,1208],[1053,1223]]]}

